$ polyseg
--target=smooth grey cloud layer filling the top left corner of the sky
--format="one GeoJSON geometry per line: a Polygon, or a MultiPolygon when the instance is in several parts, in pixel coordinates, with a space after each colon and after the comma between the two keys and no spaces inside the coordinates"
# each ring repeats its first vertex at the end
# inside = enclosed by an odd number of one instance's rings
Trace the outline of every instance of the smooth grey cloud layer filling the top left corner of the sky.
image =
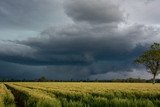
{"type": "Polygon", "coordinates": [[[62,1],[0,0],[1,29],[39,30],[67,21],[62,1]]]}

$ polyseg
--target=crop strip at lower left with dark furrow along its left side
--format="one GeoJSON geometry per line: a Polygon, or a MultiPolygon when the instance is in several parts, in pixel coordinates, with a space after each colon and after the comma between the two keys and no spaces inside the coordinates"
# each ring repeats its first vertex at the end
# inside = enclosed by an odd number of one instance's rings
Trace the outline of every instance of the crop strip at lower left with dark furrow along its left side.
{"type": "Polygon", "coordinates": [[[37,89],[29,89],[13,84],[6,85],[15,96],[18,107],[61,107],[54,95],[49,95],[37,89]]]}

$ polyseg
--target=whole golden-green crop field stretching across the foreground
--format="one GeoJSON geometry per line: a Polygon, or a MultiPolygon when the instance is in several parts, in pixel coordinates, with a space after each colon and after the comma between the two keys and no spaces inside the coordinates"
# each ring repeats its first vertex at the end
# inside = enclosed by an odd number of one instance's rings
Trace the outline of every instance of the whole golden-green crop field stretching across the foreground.
{"type": "Polygon", "coordinates": [[[160,107],[151,83],[1,83],[0,95],[0,107],[160,107]]]}

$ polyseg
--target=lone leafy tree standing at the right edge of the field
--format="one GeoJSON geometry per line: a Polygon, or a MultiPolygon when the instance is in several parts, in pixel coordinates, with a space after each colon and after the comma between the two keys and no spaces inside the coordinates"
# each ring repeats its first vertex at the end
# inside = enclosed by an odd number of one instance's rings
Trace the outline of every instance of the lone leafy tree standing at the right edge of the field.
{"type": "Polygon", "coordinates": [[[147,71],[153,75],[153,84],[155,84],[155,78],[160,73],[160,44],[151,45],[150,49],[139,56],[135,62],[145,65],[147,71]]]}

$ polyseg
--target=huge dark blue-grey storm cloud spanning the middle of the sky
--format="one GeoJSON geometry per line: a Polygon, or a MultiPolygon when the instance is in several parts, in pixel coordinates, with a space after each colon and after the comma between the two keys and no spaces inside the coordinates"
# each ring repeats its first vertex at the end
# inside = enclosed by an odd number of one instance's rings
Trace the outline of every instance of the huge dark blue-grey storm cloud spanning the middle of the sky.
{"type": "Polygon", "coordinates": [[[30,65],[87,66],[97,61],[128,61],[146,49],[143,45],[152,39],[150,35],[158,35],[157,30],[143,25],[112,29],[110,32],[97,26],[95,30],[90,25],[66,26],[57,30],[50,28],[38,38],[17,41],[15,51],[12,51],[14,45],[8,47],[12,50],[0,50],[0,58],[30,65]],[[142,46],[138,45],[140,43],[142,46]]]}

